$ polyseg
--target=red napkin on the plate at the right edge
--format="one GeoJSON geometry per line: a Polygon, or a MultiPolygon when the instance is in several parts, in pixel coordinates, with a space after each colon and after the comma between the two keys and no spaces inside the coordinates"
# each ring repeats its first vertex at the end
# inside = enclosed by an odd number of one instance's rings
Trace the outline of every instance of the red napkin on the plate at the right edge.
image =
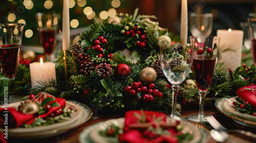
{"type": "Polygon", "coordinates": [[[256,85],[239,88],[237,90],[237,95],[240,99],[247,101],[251,105],[251,108],[254,111],[256,111],[256,85]],[[251,90],[251,89],[254,89],[254,90],[251,90]]]}

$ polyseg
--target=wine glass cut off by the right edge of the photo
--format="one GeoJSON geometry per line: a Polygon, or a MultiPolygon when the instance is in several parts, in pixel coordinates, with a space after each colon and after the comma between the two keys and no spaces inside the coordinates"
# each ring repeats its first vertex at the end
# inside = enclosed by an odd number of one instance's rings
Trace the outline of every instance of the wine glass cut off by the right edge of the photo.
{"type": "Polygon", "coordinates": [[[251,37],[251,54],[254,65],[256,65],[256,18],[248,18],[248,24],[251,37]]]}

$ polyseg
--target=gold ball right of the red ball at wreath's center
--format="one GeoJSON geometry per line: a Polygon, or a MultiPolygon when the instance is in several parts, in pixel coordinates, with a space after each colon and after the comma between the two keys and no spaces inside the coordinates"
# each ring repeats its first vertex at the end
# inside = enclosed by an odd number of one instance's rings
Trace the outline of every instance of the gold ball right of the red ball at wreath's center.
{"type": "Polygon", "coordinates": [[[157,72],[152,67],[145,67],[140,72],[142,82],[153,83],[157,79],[157,72]]]}

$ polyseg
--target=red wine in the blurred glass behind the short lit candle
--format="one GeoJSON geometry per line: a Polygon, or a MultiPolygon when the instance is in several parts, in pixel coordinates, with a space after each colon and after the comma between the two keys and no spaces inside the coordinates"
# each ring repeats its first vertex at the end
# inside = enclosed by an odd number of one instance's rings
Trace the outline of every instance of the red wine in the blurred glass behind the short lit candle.
{"type": "Polygon", "coordinates": [[[54,51],[54,30],[40,30],[40,37],[42,46],[45,49],[46,55],[51,55],[54,51]]]}

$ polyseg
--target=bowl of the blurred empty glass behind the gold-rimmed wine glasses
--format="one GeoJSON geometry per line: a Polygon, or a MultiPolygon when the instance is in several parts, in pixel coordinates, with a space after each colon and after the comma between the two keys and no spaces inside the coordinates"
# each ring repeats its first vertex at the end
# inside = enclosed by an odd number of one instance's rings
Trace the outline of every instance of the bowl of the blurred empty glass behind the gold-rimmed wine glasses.
{"type": "Polygon", "coordinates": [[[189,26],[192,35],[209,36],[212,31],[212,13],[190,13],[189,26]]]}

